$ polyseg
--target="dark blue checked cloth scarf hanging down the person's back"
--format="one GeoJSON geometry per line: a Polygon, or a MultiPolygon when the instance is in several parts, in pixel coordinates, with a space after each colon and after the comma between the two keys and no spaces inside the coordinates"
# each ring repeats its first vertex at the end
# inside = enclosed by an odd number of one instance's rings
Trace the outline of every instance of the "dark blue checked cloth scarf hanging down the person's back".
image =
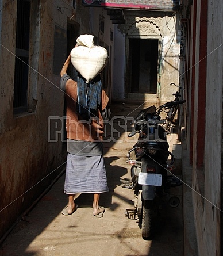
{"type": "Polygon", "coordinates": [[[97,75],[91,82],[84,82],[84,78],[78,75],[78,112],[84,120],[95,117],[96,110],[101,104],[102,82],[97,75]]]}

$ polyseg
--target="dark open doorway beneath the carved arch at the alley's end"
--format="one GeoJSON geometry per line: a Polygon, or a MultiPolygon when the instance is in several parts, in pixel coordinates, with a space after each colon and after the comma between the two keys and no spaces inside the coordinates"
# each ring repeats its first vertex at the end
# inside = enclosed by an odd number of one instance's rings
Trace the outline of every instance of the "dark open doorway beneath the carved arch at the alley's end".
{"type": "Polygon", "coordinates": [[[158,45],[158,39],[129,39],[129,93],[156,94],[158,45]]]}

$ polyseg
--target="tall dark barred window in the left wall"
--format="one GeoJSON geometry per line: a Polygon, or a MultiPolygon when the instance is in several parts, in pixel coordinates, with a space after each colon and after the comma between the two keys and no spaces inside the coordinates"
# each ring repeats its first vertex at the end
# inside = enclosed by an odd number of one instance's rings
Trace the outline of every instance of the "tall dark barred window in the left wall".
{"type": "Polygon", "coordinates": [[[14,113],[27,111],[29,71],[30,1],[18,0],[16,24],[16,62],[14,74],[14,113]]]}

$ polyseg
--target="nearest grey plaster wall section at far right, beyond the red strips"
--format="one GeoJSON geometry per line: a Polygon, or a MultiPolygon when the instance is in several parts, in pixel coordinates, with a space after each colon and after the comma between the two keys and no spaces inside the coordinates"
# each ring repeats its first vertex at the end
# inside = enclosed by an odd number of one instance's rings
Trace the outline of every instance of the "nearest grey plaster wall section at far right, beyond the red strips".
{"type": "MultiPolygon", "coordinates": [[[[205,127],[205,202],[203,225],[198,230],[199,255],[222,255],[222,88],[223,4],[208,1],[207,81],[205,127]],[[210,244],[211,246],[208,246],[210,244]]],[[[199,212],[195,213],[199,215],[199,212]]],[[[199,215],[200,217],[201,215],[199,215]]]]}

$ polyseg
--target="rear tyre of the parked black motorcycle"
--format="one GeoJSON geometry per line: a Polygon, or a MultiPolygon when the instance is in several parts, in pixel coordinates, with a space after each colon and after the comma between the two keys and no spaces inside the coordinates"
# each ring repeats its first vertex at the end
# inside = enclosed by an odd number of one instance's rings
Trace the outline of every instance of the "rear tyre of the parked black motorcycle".
{"type": "Polygon", "coordinates": [[[144,200],[142,214],[142,236],[143,239],[152,239],[154,235],[155,206],[153,201],[144,200]]]}

